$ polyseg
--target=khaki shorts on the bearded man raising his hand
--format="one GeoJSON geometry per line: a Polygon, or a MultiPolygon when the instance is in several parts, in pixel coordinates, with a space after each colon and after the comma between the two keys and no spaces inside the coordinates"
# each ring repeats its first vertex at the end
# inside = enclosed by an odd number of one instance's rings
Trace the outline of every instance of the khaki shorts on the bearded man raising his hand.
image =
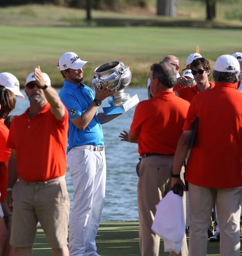
{"type": "Polygon", "coordinates": [[[20,179],[13,187],[12,197],[12,246],[32,247],[38,221],[51,248],[67,245],[70,200],[65,175],[46,182],[20,179]]]}

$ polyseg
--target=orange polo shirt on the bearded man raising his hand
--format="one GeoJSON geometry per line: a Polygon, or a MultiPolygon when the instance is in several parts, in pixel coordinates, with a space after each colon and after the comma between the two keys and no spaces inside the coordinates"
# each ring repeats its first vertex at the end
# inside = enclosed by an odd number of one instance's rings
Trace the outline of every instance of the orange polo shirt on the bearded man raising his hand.
{"type": "Polygon", "coordinates": [[[25,181],[46,181],[66,173],[68,112],[61,121],[47,103],[32,119],[29,108],[11,124],[7,147],[16,149],[17,173],[25,181]]]}

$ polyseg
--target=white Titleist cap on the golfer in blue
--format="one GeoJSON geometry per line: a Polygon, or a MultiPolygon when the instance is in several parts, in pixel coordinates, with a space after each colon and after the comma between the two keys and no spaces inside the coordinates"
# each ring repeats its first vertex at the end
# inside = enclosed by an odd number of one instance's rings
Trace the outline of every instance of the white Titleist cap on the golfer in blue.
{"type": "Polygon", "coordinates": [[[58,68],[60,70],[66,70],[68,68],[78,70],[86,63],[88,63],[88,61],[82,61],[74,52],[66,52],[60,57],[58,68]]]}

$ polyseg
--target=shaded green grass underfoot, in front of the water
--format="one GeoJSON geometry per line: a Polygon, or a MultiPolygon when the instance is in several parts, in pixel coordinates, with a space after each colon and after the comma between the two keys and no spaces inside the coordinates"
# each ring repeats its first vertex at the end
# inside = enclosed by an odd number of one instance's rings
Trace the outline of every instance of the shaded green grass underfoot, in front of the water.
{"type": "MultiPolygon", "coordinates": [[[[139,256],[138,227],[138,222],[101,223],[96,238],[98,253],[102,256],[139,256]]],[[[219,256],[219,243],[208,242],[207,253],[210,256],[219,256]]],[[[51,250],[47,244],[46,236],[41,227],[38,227],[34,256],[50,255],[51,250]]],[[[168,255],[169,253],[164,253],[164,244],[161,241],[159,256],[168,255]]]]}

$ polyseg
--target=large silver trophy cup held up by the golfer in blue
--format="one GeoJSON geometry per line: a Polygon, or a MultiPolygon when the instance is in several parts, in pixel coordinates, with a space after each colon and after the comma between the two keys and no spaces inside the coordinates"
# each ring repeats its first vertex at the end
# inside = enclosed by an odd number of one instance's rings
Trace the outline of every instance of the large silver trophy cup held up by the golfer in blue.
{"type": "Polygon", "coordinates": [[[124,93],[124,89],[130,84],[132,74],[130,68],[124,66],[121,61],[102,64],[94,73],[92,85],[96,85],[98,90],[109,84],[113,85],[112,91],[117,91],[108,100],[108,106],[103,108],[105,115],[126,113],[139,102],[137,94],[131,98],[129,93],[124,93]]]}

